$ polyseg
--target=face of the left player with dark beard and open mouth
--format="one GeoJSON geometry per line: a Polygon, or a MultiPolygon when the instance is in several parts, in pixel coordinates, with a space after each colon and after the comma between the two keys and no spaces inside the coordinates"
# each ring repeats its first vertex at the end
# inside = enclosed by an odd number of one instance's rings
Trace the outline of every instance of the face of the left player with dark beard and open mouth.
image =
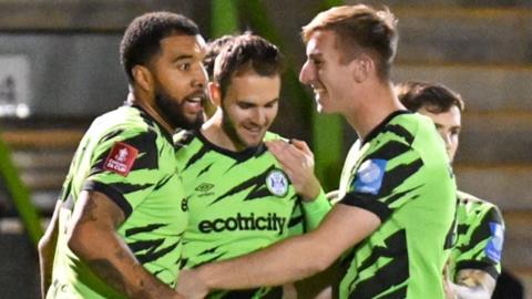
{"type": "Polygon", "coordinates": [[[173,34],[161,40],[151,63],[155,110],[174,128],[190,128],[203,120],[206,73],[201,35],[173,34]]]}

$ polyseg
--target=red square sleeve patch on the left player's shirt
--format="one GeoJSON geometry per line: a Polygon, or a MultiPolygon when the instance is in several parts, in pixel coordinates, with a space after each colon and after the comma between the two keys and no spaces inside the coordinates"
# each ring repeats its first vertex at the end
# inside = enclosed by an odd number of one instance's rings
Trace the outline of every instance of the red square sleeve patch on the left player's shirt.
{"type": "Polygon", "coordinates": [[[117,142],[109,153],[103,168],[122,176],[127,176],[137,155],[139,150],[129,144],[117,142]]]}

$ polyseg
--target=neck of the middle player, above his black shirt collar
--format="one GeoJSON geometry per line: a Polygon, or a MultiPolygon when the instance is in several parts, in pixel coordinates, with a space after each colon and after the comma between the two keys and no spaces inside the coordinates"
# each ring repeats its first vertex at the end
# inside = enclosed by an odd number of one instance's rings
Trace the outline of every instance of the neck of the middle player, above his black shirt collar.
{"type": "Polygon", "coordinates": [[[223,127],[223,111],[216,110],[214,115],[202,125],[203,136],[212,144],[232,152],[242,152],[245,146],[235,142],[223,127]]]}

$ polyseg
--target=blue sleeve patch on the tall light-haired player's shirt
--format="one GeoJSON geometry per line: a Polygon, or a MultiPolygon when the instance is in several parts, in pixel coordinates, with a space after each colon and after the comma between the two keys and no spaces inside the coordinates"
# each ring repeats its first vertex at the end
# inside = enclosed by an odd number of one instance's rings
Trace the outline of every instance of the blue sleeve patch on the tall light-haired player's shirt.
{"type": "Polygon", "coordinates": [[[365,161],[358,168],[354,182],[354,190],[377,195],[385,177],[388,161],[374,158],[365,161]]]}

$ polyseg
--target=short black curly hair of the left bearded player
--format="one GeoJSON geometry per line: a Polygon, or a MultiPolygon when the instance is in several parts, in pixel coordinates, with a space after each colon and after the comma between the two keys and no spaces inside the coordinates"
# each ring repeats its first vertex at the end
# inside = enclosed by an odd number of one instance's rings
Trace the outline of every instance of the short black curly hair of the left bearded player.
{"type": "Polygon", "coordinates": [[[132,69],[146,65],[161,50],[160,41],[172,34],[200,34],[197,25],[188,18],[167,11],[149,12],[135,18],[120,43],[120,60],[127,80],[132,83],[132,69]]]}

